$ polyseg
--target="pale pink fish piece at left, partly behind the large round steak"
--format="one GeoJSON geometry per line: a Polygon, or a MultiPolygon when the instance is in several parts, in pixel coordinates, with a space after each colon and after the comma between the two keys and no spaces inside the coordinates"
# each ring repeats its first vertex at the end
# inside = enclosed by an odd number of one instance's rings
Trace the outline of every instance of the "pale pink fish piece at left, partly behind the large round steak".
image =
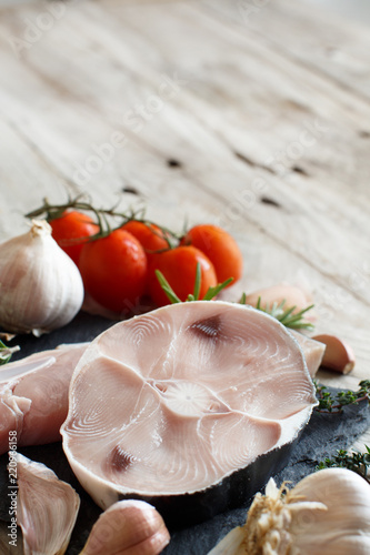
{"type": "Polygon", "coordinates": [[[61,440],[70,380],[87,345],[63,345],[0,367],[0,454],[9,448],[9,432],[17,432],[18,446],[61,440]]]}

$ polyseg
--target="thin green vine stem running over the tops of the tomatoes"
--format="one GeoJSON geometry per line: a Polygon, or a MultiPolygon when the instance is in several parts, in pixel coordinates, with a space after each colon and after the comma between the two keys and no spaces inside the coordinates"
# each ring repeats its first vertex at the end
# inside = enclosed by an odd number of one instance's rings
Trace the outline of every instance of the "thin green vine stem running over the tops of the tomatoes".
{"type": "MultiPolygon", "coordinates": [[[[50,204],[48,199],[44,198],[43,204],[40,208],[28,212],[28,214],[26,214],[26,218],[33,219],[42,216],[48,222],[51,222],[52,220],[61,218],[67,210],[78,210],[81,212],[91,213],[94,216],[97,225],[99,226],[99,232],[94,235],[91,235],[89,238],[81,238],[84,241],[96,241],[97,239],[107,236],[112,231],[134,220],[136,222],[141,222],[148,226],[151,226],[153,233],[158,233],[156,230],[157,228],[159,228],[161,233],[158,234],[167,241],[169,249],[172,249],[179,242],[179,234],[147,219],[144,208],[138,208],[137,210],[134,210],[133,208],[129,208],[126,212],[121,212],[118,210],[119,202],[111,208],[96,208],[90,199],[84,199],[86,195],[79,194],[76,198],[68,196],[68,201],[66,203],[50,204]]],[[[77,240],[74,239],[74,241],[77,240]]]]}

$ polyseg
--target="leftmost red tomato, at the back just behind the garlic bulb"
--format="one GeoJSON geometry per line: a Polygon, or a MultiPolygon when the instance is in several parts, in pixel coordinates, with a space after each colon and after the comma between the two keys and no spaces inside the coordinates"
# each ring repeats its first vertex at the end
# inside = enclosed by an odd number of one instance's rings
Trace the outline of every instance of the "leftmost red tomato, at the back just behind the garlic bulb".
{"type": "Polygon", "coordinates": [[[86,239],[99,232],[92,218],[77,210],[64,212],[60,218],[51,220],[52,236],[59,246],[79,265],[80,254],[86,239]]]}

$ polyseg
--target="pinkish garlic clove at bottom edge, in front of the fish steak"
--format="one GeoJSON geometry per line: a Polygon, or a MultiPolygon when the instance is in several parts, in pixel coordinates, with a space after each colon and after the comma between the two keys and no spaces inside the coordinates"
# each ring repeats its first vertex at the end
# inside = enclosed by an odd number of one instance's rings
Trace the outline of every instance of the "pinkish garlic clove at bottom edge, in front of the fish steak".
{"type": "Polygon", "coordinates": [[[169,542],[154,507],[143,501],[119,501],[100,515],[81,555],[158,555],[169,542]]]}

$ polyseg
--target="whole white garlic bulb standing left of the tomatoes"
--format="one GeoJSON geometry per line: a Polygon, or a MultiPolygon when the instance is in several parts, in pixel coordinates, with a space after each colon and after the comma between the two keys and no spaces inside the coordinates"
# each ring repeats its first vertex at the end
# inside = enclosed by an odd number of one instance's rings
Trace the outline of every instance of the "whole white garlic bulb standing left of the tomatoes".
{"type": "Polygon", "coordinates": [[[68,324],[83,301],[80,272],[44,220],[0,244],[0,326],[40,335],[68,324]]]}

